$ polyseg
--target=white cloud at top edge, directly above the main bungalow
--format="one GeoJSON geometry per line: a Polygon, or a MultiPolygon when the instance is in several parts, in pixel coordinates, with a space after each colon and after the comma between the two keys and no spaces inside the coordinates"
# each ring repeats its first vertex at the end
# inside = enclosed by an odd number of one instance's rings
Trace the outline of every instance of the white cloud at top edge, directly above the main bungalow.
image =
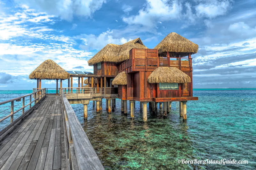
{"type": "Polygon", "coordinates": [[[180,18],[182,5],[177,1],[169,4],[166,0],[147,0],[147,7],[139,11],[138,15],[123,17],[127,24],[138,24],[155,27],[159,20],[169,21],[180,18]]]}

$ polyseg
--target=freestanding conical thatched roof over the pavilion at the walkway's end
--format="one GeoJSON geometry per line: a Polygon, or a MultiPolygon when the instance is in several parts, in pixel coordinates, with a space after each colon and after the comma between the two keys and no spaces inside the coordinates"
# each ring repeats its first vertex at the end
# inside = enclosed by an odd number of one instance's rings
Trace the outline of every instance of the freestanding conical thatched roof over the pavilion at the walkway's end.
{"type": "Polygon", "coordinates": [[[45,60],[29,75],[30,79],[68,79],[70,75],[52,60],[45,60]]]}

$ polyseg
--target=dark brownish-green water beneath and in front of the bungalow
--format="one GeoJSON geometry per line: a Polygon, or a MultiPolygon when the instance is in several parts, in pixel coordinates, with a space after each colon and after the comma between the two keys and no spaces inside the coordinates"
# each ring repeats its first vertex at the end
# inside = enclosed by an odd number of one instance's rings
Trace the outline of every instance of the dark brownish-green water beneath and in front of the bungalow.
{"type": "Polygon", "coordinates": [[[163,119],[163,110],[153,114],[148,109],[148,122],[143,122],[140,103],[135,104],[134,119],[121,114],[121,100],[109,114],[102,101],[102,113],[88,105],[88,120],[83,120],[82,105],[72,105],[93,148],[106,169],[193,169],[177,163],[178,159],[195,159],[188,126],[173,103],[171,113],[163,119]],[[90,111],[89,111],[90,110],[90,111]]]}

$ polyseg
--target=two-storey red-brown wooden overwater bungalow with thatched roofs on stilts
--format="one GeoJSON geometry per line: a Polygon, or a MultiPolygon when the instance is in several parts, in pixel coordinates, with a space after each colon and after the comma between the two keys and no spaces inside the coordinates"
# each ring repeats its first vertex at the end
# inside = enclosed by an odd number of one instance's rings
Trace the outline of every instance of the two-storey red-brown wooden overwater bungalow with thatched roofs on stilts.
{"type": "Polygon", "coordinates": [[[180,101],[180,116],[186,121],[186,102],[198,100],[193,97],[191,58],[197,50],[197,44],[169,33],[154,49],[148,49],[140,38],[123,45],[108,44],[88,64],[93,65],[94,75],[100,76],[96,81],[101,87],[103,78],[104,87],[118,86],[122,112],[127,113],[129,100],[134,117],[134,102],[140,101],[147,121],[148,102],[153,112],[157,102],[160,107],[163,103],[166,116],[170,102],[180,101]]]}

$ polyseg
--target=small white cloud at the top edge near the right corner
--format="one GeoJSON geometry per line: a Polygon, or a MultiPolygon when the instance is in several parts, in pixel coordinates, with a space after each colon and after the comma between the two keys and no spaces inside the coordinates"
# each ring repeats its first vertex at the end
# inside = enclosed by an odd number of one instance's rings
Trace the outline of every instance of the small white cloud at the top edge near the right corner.
{"type": "Polygon", "coordinates": [[[219,15],[224,15],[228,11],[230,2],[228,0],[211,0],[205,1],[195,6],[196,15],[198,17],[214,18],[219,15]]]}

